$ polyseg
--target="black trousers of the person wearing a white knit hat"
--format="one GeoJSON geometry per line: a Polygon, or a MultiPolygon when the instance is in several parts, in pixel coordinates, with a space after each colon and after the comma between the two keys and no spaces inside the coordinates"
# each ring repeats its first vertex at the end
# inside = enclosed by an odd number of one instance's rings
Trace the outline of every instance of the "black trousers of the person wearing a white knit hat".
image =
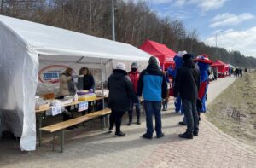
{"type": "Polygon", "coordinates": [[[121,130],[121,124],[122,124],[122,117],[125,114],[125,112],[118,112],[112,110],[112,113],[109,117],[109,129],[113,129],[113,125],[115,124],[115,132],[119,133],[121,130]]]}

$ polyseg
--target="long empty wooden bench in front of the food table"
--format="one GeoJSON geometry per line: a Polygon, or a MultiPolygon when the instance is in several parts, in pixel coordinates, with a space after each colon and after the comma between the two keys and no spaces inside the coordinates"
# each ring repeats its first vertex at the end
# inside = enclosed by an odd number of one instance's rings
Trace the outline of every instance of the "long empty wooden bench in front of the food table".
{"type": "Polygon", "coordinates": [[[63,121],[61,123],[57,123],[55,125],[49,125],[45,126],[40,129],[40,131],[45,131],[49,133],[53,133],[53,148],[52,150],[55,150],[55,133],[56,132],[61,132],[61,153],[63,152],[63,146],[64,146],[64,136],[65,136],[65,129],[67,129],[70,126],[73,125],[78,125],[80,123],[84,123],[86,121],[89,121],[90,119],[96,119],[96,118],[101,118],[101,123],[102,123],[102,129],[105,126],[105,119],[108,114],[111,113],[111,110],[109,108],[103,109],[101,111],[97,111],[94,113],[89,113],[83,116],[80,116],[78,118],[74,119],[69,119],[67,121],[63,121]],[[104,121],[104,123],[103,123],[104,121]]]}

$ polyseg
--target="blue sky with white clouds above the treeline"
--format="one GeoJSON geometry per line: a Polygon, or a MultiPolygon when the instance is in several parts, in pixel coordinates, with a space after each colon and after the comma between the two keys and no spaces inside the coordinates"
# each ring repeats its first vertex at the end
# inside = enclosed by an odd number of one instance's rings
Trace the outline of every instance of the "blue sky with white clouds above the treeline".
{"type": "Polygon", "coordinates": [[[196,29],[201,41],[215,46],[218,32],[218,47],[256,57],[256,0],[145,1],[160,17],[183,20],[187,29],[196,29]]]}

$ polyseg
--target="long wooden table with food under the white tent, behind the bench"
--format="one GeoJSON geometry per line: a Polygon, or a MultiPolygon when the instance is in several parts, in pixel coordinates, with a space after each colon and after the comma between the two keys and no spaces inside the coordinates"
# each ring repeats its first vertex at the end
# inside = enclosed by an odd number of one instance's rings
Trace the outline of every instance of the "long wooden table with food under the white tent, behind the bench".
{"type": "MultiPolygon", "coordinates": [[[[108,97],[104,97],[104,98],[108,98],[108,97]]],[[[62,105],[61,107],[75,106],[75,105],[78,105],[81,102],[101,101],[102,99],[103,99],[103,97],[93,97],[93,98],[87,99],[86,101],[73,101],[72,103],[62,105]]],[[[43,108],[43,109],[40,109],[40,110],[35,110],[36,119],[38,121],[37,133],[38,133],[38,136],[39,136],[39,138],[38,138],[39,139],[39,142],[38,142],[39,147],[41,146],[42,132],[41,132],[40,128],[42,128],[43,114],[47,110],[50,110],[50,109],[51,109],[51,107],[46,107],[46,108],[43,108]]]]}

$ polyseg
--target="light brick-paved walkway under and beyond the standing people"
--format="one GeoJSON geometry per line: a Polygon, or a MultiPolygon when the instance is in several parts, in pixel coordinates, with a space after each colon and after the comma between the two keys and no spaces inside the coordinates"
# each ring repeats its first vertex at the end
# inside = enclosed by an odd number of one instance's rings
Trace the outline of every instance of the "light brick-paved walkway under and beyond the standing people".
{"type": "MultiPolygon", "coordinates": [[[[208,102],[227,88],[234,78],[220,78],[209,88],[208,102]]],[[[171,103],[172,104],[172,103],[171,103]]],[[[107,130],[98,130],[97,123],[88,123],[86,128],[67,131],[63,154],[51,152],[49,138],[42,148],[25,154],[17,143],[0,142],[0,167],[253,167],[256,155],[247,146],[225,135],[207,119],[201,122],[200,136],[192,141],[181,140],[177,134],[185,128],[177,125],[182,116],[173,113],[173,106],[163,113],[163,131],[160,139],[144,140],[142,125],[126,126],[127,136],[113,137],[107,130]],[[95,126],[93,126],[95,125],[95,126]],[[227,165],[227,166],[226,166],[227,165]]]]}

